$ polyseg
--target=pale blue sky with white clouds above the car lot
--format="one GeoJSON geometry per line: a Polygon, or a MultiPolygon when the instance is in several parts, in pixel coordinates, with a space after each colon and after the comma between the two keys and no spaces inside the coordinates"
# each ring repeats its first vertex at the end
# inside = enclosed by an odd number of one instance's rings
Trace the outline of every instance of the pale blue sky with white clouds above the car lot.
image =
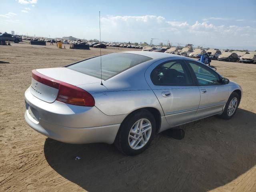
{"type": "Polygon", "coordinates": [[[256,0],[1,0],[0,32],[256,50],[256,0]]]}

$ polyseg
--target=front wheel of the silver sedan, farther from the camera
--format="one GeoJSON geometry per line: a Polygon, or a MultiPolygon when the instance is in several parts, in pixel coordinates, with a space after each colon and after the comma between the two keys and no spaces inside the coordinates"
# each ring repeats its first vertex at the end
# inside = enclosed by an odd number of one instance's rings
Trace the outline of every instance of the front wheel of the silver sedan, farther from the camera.
{"type": "Polygon", "coordinates": [[[222,118],[222,119],[232,118],[234,116],[234,114],[236,113],[239,103],[240,103],[239,95],[236,92],[233,92],[230,95],[230,97],[228,98],[228,101],[226,102],[224,111],[220,115],[220,118],[222,118]]]}

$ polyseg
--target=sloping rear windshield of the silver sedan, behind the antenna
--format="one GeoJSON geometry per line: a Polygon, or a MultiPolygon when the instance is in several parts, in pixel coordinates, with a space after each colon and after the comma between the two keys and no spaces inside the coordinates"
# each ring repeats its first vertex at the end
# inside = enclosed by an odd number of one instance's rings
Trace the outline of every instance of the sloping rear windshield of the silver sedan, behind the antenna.
{"type": "Polygon", "coordinates": [[[107,55],[102,55],[101,57],[94,57],[88,60],[84,60],[70,66],[67,68],[74,71],[94,76],[100,78],[100,58],[102,64],[102,79],[107,80],[133,66],[140,63],[151,60],[152,58],[130,54],[130,53],[112,53],[107,55]]]}

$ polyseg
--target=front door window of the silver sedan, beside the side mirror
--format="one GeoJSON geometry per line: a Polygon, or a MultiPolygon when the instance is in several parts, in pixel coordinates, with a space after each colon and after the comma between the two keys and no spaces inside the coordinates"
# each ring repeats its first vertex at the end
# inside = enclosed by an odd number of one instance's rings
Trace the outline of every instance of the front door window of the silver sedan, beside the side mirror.
{"type": "Polygon", "coordinates": [[[196,79],[198,81],[198,85],[220,85],[221,80],[220,76],[214,72],[212,69],[204,66],[203,64],[188,61],[192,70],[196,74],[196,79]]]}

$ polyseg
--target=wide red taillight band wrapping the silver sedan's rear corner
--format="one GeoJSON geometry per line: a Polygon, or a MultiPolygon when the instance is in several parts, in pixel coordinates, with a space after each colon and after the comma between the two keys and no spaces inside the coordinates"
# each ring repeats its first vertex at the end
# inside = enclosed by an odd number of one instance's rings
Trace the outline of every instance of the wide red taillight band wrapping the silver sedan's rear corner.
{"type": "Polygon", "coordinates": [[[90,93],[74,85],[50,78],[38,73],[36,70],[32,70],[32,78],[42,84],[58,89],[57,101],[88,107],[92,107],[95,104],[94,98],[90,93]]]}

